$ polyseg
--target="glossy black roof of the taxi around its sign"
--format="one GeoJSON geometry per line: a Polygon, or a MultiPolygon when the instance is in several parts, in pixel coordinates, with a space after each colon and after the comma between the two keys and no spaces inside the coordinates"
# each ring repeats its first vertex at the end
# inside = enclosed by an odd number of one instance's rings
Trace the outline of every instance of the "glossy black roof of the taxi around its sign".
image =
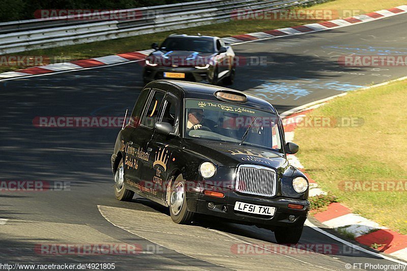
{"type": "Polygon", "coordinates": [[[272,113],[276,114],[277,111],[269,102],[260,99],[254,95],[237,91],[236,89],[231,89],[222,86],[215,86],[215,85],[208,85],[202,83],[195,83],[195,82],[187,82],[187,81],[177,81],[177,80],[157,80],[157,83],[170,83],[172,85],[178,86],[179,89],[182,90],[184,94],[184,98],[193,98],[193,99],[205,99],[205,100],[213,100],[219,101],[215,97],[215,92],[217,91],[231,91],[240,94],[244,94],[247,97],[247,102],[239,103],[244,106],[252,107],[259,110],[271,111],[272,113]]]}

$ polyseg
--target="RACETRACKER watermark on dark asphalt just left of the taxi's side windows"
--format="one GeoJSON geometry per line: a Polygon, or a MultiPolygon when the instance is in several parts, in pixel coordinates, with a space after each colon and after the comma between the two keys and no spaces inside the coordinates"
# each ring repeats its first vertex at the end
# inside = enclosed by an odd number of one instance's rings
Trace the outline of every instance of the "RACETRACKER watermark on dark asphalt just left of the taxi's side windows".
{"type": "Polygon", "coordinates": [[[121,128],[123,123],[137,124],[136,118],[122,116],[36,116],[37,128],[121,128]]]}

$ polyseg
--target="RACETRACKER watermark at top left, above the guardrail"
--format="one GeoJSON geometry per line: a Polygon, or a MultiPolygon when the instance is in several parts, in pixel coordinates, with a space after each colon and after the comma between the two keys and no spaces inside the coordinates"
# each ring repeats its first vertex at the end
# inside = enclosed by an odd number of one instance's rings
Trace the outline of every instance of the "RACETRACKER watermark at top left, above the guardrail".
{"type": "Polygon", "coordinates": [[[59,20],[74,21],[110,21],[110,20],[142,20],[154,19],[162,14],[160,10],[109,10],[109,9],[41,9],[34,12],[36,19],[52,20],[58,17],[59,20]]]}

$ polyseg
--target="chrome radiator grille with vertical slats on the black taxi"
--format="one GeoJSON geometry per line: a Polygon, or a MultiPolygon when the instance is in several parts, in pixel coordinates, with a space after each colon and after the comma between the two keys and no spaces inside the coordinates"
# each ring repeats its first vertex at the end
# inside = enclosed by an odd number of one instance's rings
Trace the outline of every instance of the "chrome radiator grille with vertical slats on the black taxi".
{"type": "Polygon", "coordinates": [[[236,191],[258,196],[272,197],[276,194],[276,172],[272,168],[241,165],[236,177],[236,191]]]}

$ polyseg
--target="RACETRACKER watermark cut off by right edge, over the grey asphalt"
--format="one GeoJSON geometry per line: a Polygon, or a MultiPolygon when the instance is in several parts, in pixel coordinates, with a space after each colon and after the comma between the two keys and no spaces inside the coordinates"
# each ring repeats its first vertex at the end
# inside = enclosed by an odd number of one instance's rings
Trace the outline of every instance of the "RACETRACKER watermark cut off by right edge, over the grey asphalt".
{"type": "Polygon", "coordinates": [[[407,55],[349,55],[339,56],[343,67],[407,67],[407,55]]]}

